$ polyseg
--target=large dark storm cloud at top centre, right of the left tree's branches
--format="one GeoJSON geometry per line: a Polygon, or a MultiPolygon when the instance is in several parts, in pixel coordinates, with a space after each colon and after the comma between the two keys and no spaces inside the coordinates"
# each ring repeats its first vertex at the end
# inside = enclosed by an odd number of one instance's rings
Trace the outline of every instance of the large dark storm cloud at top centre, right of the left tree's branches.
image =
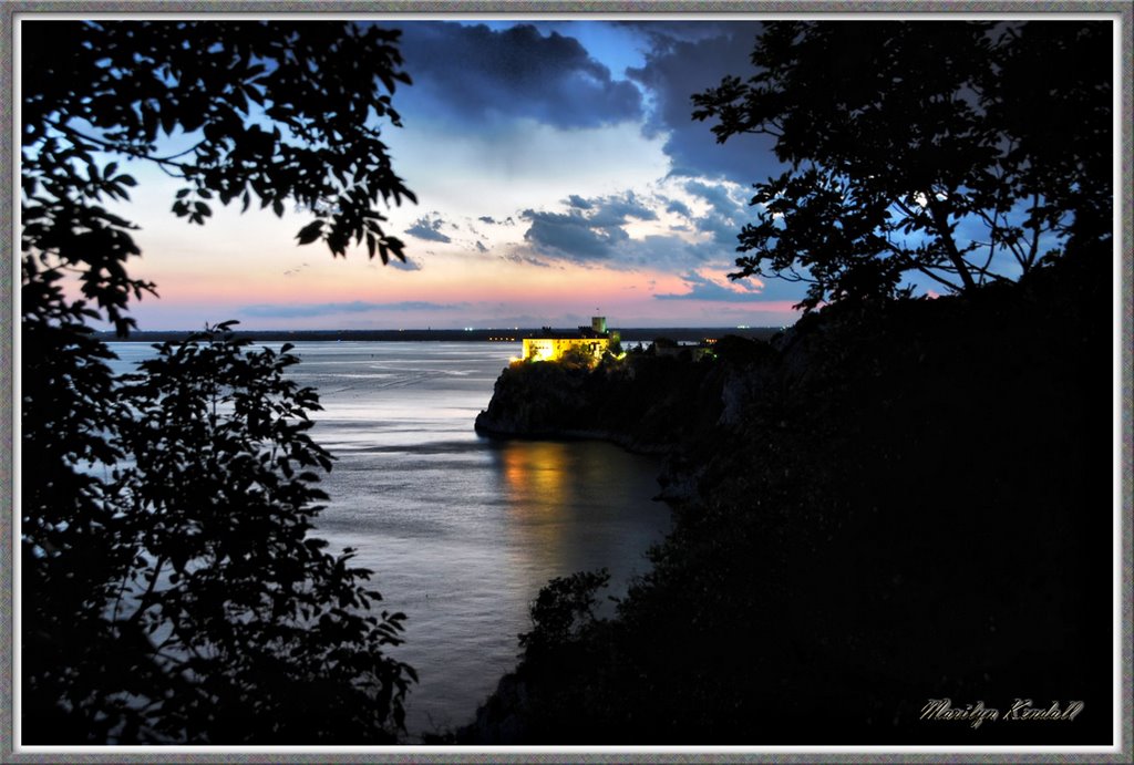
{"type": "Polygon", "coordinates": [[[642,116],[638,88],[611,77],[574,37],[543,36],[530,24],[501,31],[452,22],[398,26],[414,78],[403,96],[407,118],[425,102],[434,117],[464,125],[496,116],[586,128],[642,116]]]}

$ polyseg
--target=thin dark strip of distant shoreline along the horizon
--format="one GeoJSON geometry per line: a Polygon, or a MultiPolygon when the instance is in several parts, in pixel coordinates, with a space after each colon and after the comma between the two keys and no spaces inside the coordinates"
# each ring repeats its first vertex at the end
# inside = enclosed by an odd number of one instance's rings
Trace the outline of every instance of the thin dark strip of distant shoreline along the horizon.
{"type": "MultiPolygon", "coordinates": [[[[555,328],[556,331],[569,331],[555,328]]],[[[574,329],[574,328],[570,328],[574,329]]],[[[742,338],[767,340],[780,331],[778,326],[661,326],[661,328],[613,328],[621,339],[629,342],[651,342],[655,338],[696,341],[704,338],[721,338],[735,334],[742,338]]],[[[107,342],[164,342],[184,339],[191,330],[135,331],[129,337],[119,338],[113,332],[98,332],[96,337],[107,342]]],[[[519,342],[524,338],[543,334],[540,329],[518,330],[237,330],[240,337],[260,342],[301,341],[405,341],[405,342],[519,342]]]]}

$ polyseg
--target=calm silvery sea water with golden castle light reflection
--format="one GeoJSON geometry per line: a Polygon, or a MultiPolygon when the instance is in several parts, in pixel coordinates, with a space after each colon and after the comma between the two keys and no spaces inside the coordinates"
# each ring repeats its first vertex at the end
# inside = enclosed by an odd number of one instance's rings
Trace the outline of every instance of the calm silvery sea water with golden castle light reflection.
{"type": "MultiPolygon", "coordinates": [[[[112,343],[124,364],[150,355],[112,343]]],[[[550,578],[607,567],[612,594],[669,528],[659,465],[598,442],[496,442],[473,432],[511,345],[302,342],[295,379],[320,392],[314,435],[338,457],[319,534],[358,551],[383,607],[408,614],[391,653],[421,682],[412,734],[468,722],[515,665],[550,578]]]]}

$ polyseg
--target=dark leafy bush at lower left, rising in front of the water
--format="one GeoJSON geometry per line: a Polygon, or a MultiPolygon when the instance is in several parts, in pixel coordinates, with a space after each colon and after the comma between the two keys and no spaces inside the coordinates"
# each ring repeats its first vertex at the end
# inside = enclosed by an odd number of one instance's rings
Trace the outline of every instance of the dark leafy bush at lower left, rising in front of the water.
{"type": "Polygon", "coordinates": [[[404,614],[361,613],[381,600],[370,572],[308,536],[331,467],[307,434],[318,397],[286,377],[288,346],[249,351],[228,330],[163,343],[125,377],[102,513],[28,513],[40,736],[383,741],[404,720],[415,674],[382,654],[404,614]]]}

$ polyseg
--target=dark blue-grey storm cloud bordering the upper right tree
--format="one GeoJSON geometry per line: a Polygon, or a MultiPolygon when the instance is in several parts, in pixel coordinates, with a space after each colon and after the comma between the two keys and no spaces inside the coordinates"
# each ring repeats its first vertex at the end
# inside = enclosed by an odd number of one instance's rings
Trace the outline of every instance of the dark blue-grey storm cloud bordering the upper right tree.
{"type": "Polygon", "coordinates": [[[650,41],[646,62],[627,75],[650,88],[654,108],[646,120],[648,136],[666,135],[665,151],[677,176],[727,178],[748,185],[779,167],[768,136],[735,136],[718,144],[711,121],[692,118],[694,93],[720,84],[725,75],[748,77],[748,60],[759,22],[651,23],[634,25],[650,41]]]}

